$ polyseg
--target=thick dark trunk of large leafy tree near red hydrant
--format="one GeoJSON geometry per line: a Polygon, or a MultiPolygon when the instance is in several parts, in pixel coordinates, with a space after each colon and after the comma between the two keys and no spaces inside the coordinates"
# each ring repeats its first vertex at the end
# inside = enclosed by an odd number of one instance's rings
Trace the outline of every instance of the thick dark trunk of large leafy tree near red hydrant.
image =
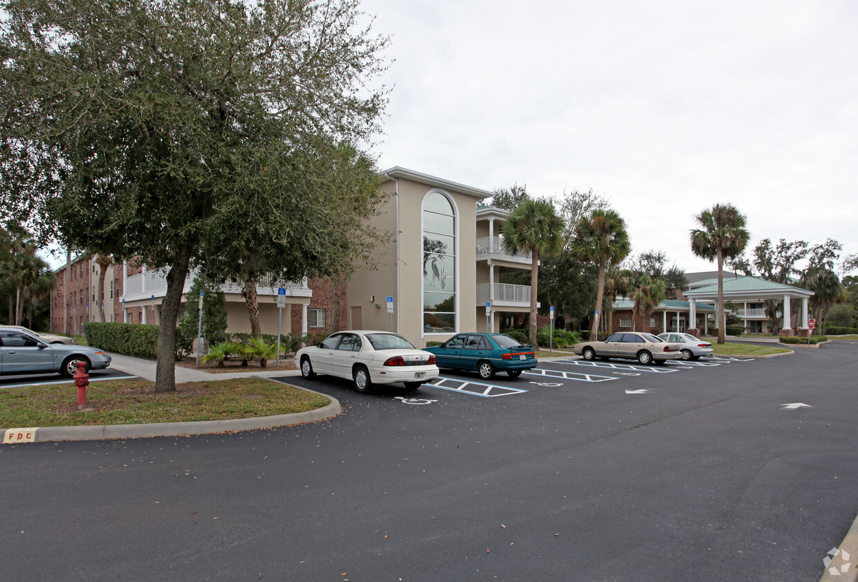
{"type": "Polygon", "coordinates": [[[166,274],[166,294],[161,304],[161,323],[155,352],[158,361],[155,368],[155,392],[176,391],[176,323],[189,264],[190,248],[186,248],[178,253],[166,274]]]}

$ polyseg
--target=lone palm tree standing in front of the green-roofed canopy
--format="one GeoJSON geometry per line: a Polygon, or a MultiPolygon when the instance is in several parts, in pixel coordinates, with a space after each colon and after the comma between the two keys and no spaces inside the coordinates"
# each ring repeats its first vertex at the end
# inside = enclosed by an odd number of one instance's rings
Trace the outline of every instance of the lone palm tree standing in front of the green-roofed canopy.
{"type": "Polygon", "coordinates": [[[694,217],[702,228],[692,228],[692,252],[698,257],[718,262],[718,304],[715,324],[718,343],[724,343],[724,260],[738,257],[745,250],[750,234],[745,215],[733,204],[716,204],[694,217]]]}

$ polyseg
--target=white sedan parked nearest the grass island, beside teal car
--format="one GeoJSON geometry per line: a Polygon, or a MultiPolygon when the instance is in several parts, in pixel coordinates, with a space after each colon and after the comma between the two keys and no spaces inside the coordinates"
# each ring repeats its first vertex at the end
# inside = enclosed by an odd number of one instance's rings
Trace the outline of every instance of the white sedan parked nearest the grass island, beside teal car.
{"type": "Polygon", "coordinates": [[[394,382],[416,390],[438,378],[435,355],[389,331],[338,331],[317,346],[299,349],[295,361],[305,378],[319,373],[352,379],[359,392],[370,391],[373,384],[394,382]]]}

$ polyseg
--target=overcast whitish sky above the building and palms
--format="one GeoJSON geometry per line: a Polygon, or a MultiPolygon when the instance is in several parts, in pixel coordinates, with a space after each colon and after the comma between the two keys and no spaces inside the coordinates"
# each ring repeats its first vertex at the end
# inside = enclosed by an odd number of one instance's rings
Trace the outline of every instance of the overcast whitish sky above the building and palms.
{"type": "Polygon", "coordinates": [[[594,189],[633,253],[715,270],[693,216],[858,252],[858,2],[364,0],[392,37],[379,167],[594,189]]]}

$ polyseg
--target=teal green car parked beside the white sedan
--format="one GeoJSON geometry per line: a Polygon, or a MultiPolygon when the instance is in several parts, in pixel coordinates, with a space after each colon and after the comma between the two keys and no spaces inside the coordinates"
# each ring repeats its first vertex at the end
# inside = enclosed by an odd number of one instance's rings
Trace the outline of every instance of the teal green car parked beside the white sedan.
{"type": "Polygon", "coordinates": [[[495,372],[518,378],[539,363],[533,346],[522,345],[503,333],[460,333],[424,349],[435,355],[438,367],[473,370],[484,380],[493,378],[495,372]]]}

